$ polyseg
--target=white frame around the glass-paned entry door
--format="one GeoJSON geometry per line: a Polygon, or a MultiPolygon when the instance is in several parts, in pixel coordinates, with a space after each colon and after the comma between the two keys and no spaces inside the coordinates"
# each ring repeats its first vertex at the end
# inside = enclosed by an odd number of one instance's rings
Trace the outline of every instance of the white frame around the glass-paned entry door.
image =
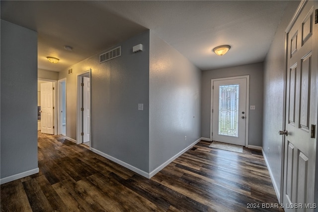
{"type": "Polygon", "coordinates": [[[213,132],[213,92],[212,92],[212,87],[214,81],[219,81],[219,80],[236,80],[236,79],[241,79],[245,78],[246,79],[246,109],[245,109],[245,147],[248,147],[248,120],[249,120],[249,75],[244,75],[244,76],[237,76],[237,77],[226,77],[226,78],[218,78],[218,79],[212,79],[211,80],[211,110],[210,110],[210,141],[213,140],[212,137],[212,132],[213,132]]]}

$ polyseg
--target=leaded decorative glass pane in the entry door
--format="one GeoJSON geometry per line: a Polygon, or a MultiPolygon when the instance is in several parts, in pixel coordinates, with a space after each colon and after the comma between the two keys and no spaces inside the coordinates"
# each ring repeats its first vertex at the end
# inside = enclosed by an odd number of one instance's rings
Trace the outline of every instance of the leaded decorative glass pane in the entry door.
{"type": "Polygon", "coordinates": [[[239,84],[219,86],[219,135],[239,137],[239,84]]]}

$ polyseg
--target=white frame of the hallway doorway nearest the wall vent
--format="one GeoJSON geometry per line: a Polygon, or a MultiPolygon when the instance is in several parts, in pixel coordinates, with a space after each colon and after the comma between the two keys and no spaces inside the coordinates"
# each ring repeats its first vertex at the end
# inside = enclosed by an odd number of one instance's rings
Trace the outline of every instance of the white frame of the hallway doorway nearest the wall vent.
{"type": "MultiPolygon", "coordinates": [[[[82,116],[82,111],[80,110],[81,106],[82,106],[82,101],[83,101],[83,94],[82,94],[82,87],[80,86],[81,82],[82,82],[82,78],[84,76],[89,76],[89,78],[91,79],[91,69],[81,72],[79,74],[77,74],[77,85],[78,85],[78,95],[77,95],[77,144],[80,144],[83,142],[83,136],[81,135],[81,130],[82,130],[82,126],[83,126],[83,116],[82,116]]],[[[91,83],[90,83],[91,85],[91,83]]],[[[91,93],[91,89],[90,89],[90,93],[91,93]]],[[[91,97],[91,95],[89,95],[91,97]]],[[[91,103],[91,101],[90,101],[91,103]]],[[[91,107],[90,107],[91,108],[91,107]]],[[[90,109],[90,114],[89,114],[89,122],[91,123],[91,109],[90,109]]],[[[91,127],[89,128],[89,130],[91,130],[91,127]]],[[[89,132],[89,149],[91,146],[91,133],[89,132]]]]}

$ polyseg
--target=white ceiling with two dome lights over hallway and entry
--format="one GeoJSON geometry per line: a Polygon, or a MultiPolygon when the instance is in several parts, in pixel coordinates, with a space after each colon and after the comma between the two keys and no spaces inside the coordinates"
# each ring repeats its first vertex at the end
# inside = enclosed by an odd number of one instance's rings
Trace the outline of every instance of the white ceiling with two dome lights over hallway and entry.
{"type": "Polygon", "coordinates": [[[151,29],[201,70],[261,62],[288,4],[234,1],[3,1],[1,19],[38,32],[38,68],[62,71],[151,29]],[[224,56],[212,49],[231,45],[224,56]],[[64,50],[64,46],[73,51],[64,50]],[[51,64],[46,57],[60,59],[51,64]]]}

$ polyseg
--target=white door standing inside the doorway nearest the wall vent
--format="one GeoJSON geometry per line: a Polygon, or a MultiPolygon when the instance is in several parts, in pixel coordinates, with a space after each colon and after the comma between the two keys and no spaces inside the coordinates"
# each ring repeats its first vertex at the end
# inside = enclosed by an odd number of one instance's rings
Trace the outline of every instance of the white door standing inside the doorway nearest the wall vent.
{"type": "Polygon", "coordinates": [[[83,143],[89,141],[90,134],[90,79],[83,77],[83,143]]]}

